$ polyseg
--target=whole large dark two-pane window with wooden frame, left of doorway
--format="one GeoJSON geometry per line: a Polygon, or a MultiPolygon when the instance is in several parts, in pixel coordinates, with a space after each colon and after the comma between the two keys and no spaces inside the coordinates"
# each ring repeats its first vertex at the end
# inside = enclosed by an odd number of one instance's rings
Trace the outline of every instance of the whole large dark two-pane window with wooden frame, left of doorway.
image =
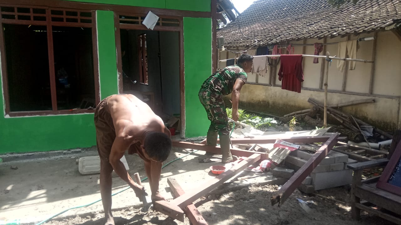
{"type": "Polygon", "coordinates": [[[95,107],[93,12],[0,6],[0,14],[6,113],[62,114],[95,107]]]}

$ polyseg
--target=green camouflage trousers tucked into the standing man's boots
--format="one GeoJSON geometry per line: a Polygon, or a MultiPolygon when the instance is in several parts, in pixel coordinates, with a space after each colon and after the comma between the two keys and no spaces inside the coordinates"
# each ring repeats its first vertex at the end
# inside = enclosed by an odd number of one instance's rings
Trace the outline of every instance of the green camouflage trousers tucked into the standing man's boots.
{"type": "Polygon", "coordinates": [[[207,118],[210,120],[209,130],[219,131],[219,135],[230,135],[228,117],[220,93],[211,92],[207,89],[199,90],[199,100],[205,107],[207,118]]]}

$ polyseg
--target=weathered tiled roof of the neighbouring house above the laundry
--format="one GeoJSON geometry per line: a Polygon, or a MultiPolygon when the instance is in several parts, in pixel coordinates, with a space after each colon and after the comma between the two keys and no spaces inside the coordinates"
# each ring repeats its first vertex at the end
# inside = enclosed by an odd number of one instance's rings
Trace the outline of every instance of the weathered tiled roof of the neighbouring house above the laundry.
{"type": "MultiPolygon", "coordinates": [[[[352,2],[352,1],[351,1],[352,2]]],[[[217,31],[225,47],[275,44],[383,30],[401,23],[401,0],[359,0],[335,8],[327,0],[257,0],[217,31]]]]}

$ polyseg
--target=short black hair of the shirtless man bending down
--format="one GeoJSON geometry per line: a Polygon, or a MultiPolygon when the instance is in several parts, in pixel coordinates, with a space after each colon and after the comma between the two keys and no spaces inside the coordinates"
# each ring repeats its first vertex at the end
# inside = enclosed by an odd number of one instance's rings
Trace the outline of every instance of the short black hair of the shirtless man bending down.
{"type": "Polygon", "coordinates": [[[148,133],[145,137],[144,149],[149,157],[163,162],[167,159],[168,155],[170,155],[171,139],[165,133],[148,133]]]}

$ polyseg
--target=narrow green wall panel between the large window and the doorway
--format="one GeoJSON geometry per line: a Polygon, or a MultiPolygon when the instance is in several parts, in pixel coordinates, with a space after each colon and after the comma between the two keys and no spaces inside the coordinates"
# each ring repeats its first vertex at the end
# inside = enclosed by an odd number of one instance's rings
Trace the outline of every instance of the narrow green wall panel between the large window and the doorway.
{"type": "Polygon", "coordinates": [[[118,94],[115,52],[114,13],[96,11],[97,47],[99,51],[100,98],[118,94]]]}

